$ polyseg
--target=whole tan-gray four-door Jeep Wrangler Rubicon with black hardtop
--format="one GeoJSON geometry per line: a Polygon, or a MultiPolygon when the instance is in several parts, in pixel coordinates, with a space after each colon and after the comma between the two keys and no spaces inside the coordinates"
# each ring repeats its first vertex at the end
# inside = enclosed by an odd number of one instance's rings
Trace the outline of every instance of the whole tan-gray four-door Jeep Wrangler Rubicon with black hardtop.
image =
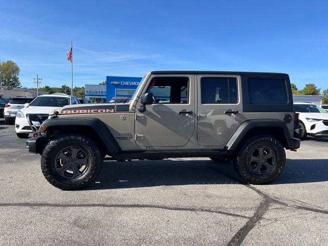
{"type": "Polygon", "coordinates": [[[245,182],[270,183],[284,168],[284,149],[300,147],[282,73],[154,71],[125,103],[65,106],[39,128],[30,116],[27,147],[64,190],[95,181],[108,158],[232,160],[245,182]]]}

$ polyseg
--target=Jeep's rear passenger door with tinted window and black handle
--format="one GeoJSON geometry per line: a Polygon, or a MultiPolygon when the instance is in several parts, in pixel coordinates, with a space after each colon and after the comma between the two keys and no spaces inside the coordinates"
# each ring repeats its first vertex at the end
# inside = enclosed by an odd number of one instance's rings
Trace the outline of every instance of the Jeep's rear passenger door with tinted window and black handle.
{"type": "Polygon", "coordinates": [[[224,146],[241,124],[240,76],[197,75],[197,141],[224,146]]]}

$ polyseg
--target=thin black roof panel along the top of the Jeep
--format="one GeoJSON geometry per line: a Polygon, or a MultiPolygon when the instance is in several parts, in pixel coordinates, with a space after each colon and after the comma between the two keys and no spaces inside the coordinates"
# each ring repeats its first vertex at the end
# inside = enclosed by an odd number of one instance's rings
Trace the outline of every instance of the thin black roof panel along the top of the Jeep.
{"type": "Polygon", "coordinates": [[[283,75],[286,73],[268,73],[268,72],[237,72],[237,71],[152,71],[151,74],[237,74],[237,75],[283,75]]]}

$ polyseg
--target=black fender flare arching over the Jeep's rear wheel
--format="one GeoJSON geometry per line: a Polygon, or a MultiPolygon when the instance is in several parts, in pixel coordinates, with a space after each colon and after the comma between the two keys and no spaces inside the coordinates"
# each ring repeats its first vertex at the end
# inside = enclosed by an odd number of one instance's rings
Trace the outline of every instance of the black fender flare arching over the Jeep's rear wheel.
{"type": "MultiPolygon", "coordinates": [[[[288,141],[293,139],[293,136],[291,136],[291,133],[287,127],[287,125],[279,120],[279,119],[254,119],[254,120],[248,120],[242,122],[242,124],[237,128],[237,130],[234,132],[234,134],[229,139],[226,148],[228,150],[235,150],[240,143],[240,141],[243,139],[243,137],[254,128],[259,127],[279,127],[282,128],[285,133],[285,138],[288,141]]],[[[290,145],[290,144],[289,144],[290,145]]]]}

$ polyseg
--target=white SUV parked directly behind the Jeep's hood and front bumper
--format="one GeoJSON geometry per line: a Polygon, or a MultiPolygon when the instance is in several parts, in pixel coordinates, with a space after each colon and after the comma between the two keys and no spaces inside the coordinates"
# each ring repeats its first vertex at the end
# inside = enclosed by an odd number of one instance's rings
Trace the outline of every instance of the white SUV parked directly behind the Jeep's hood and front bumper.
{"type": "Polygon", "coordinates": [[[29,134],[32,133],[27,121],[27,115],[33,114],[30,116],[30,119],[33,125],[38,127],[40,126],[39,120],[44,121],[48,119],[49,113],[52,110],[74,104],[79,104],[78,99],[75,96],[63,93],[53,93],[36,97],[28,106],[17,112],[15,119],[17,137],[28,138],[29,134]]]}

